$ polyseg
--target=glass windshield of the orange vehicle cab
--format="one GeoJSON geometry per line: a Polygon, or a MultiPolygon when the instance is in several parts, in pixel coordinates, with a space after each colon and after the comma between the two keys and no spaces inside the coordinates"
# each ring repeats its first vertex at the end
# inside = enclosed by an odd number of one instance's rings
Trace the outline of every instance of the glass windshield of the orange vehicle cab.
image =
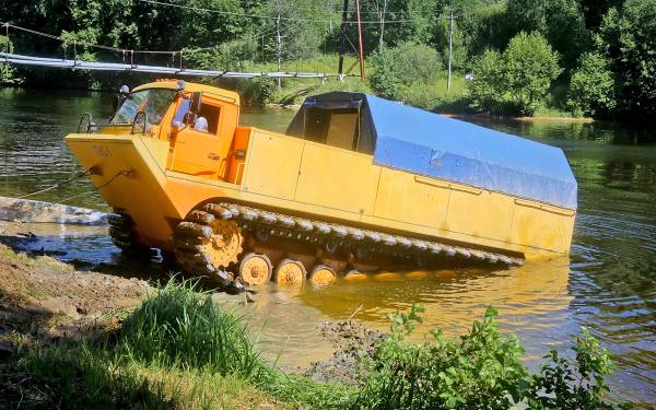
{"type": "Polygon", "coordinates": [[[144,112],[150,125],[159,125],[166,109],[176,97],[175,90],[150,89],[141,90],[128,95],[124,101],[112,124],[131,124],[139,112],[144,112]]]}

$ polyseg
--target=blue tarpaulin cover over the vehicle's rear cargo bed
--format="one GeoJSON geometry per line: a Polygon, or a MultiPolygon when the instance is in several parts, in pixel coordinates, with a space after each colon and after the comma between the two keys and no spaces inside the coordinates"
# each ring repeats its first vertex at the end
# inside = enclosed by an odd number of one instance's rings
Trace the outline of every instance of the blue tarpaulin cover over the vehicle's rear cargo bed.
{"type": "MultiPolygon", "coordinates": [[[[496,192],[576,209],[576,179],[559,148],[359,93],[307,98],[361,98],[361,139],[371,141],[374,163],[496,192]]],[[[305,105],[305,104],[304,104],[305,105]]],[[[304,108],[290,125],[302,134],[304,108]]]]}

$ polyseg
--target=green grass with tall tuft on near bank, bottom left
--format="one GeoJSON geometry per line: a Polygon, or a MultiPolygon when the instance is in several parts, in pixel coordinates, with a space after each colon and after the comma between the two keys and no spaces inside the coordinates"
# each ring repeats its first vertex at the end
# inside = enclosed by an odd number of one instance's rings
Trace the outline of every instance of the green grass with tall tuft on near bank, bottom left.
{"type": "Polygon", "coordinates": [[[30,349],[16,366],[30,375],[27,407],[333,408],[348,396],[283,374],[259,345],[249,318],[223,311],[197,282],[172,279],[116,331],[30,349]]]}

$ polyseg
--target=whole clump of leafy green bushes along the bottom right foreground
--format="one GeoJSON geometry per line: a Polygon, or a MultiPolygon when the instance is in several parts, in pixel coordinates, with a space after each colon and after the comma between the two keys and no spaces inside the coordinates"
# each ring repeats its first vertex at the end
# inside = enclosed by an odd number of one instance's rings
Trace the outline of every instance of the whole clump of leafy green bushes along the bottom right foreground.
{"type": "Polygon", "coordinates": [[[611,374],[607,350],[585,329],[573,348],[576,363],[551,351],[539,374],[520,362],[524,349],[514,335],[502,336],[496,311],[489,307],[469,333],[449,340],[440,331],[418,344],[405,341],[421,308],[390,316],[389,337],[363,361],[353,409],[625,409],[604,401],[611,374]]]}

